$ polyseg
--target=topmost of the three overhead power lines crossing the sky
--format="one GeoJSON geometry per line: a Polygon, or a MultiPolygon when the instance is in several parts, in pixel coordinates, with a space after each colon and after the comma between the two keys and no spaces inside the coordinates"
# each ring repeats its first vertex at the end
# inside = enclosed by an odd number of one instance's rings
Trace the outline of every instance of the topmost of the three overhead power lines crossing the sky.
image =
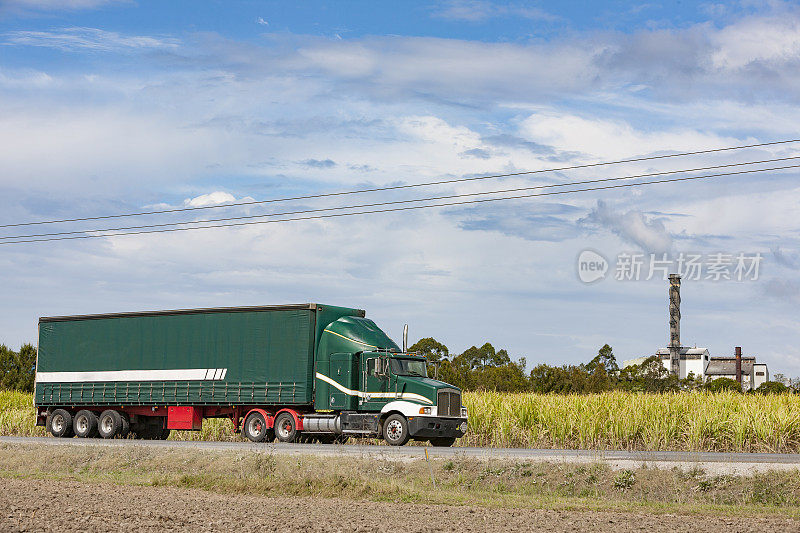
{"type": "Polygon", "coordinates": [[[506,178],[511,176],[523,176],[523,175],[530,175],[530,174],[542,174],[547,172],[561,172],[564,170],[576,170],[581,168],[594,168],[594,167],[601,167],[601,166],[608,166],[608,165],[619,165],[622,163],[635,163],[640,161],[653,161],[656,159],[668,159],[672,157],[685,157],[689,155],[700,155],[700,154],[710,154],[716,152],[728,152],[732,150],[743,150],[745,148],[758,148],[762,146],[774,146],[778,144],[789,144],[800,142],[800,139],[788,139],[784,141],[772,141],[772,142],[765,142],[765,143],[756,143],[756,144],[744,144],[740,146],[729,146],[726,148],[712,148],[709,150],[696,150],[694,152],[679,152],[677,154],[665,154],[665,155],[654,155],[654,156],[647,156],[647,157],[635,157],[631,159],[618,159],[616,161],[607,161],[603,163],[587,163],[584,165],[571,165],[566,167],[555,167],[555,168],[546,168],[541,170],[528,170],[528,171],[521,171],[521,172],[510,172],[506,174],[490,174],[486,176],[475,176],[470,178],[455,178],[451,180],[441,180],[441,181],[429,181],[425,183],[412,183],[409,185],[393,185],[389,187],[376,187],[372,189],[357,189],[352,191],[339,191],[339,192],[331,192],[331,193],[321,193],[321,194],[309,194],[304,196],[293,196],[293,197],[286,197],[286,198],[274,198],[271,200],[253,200],[250,202],[231,202],[227,204],[219,204],[219,205],[205,205],[205,206],[196,206],[196,207],[181,207],[181,208],[174,208],[174,209],[162,209],[162,210],[154,210],[154,211],[140,211],[134,213],[121,213],[117,215],[103,215],[103,216],[95,216],[95,217],[82,217],[82,218],[64,218],[60,220],[42,220],[38,222],[19,222],[16,224],[0,224],[0,228],[12,228],[12,227],[19,227],[19,226],[36,226],[42,224],[61,224],[65,222],[86,222],[90,220],[107,220],[112,218],[124,218],[124,217],[137,217],[137,216],[145,216],[145,215],[159,215],[164,213],[179,213],[179,212],[186,212],[186,211],[199,211],[204,209],[222,209],[227,207],[237,207],[237,206],[245,206],[245,205],[258,205],[258,204],[269,204],[269,203],[276,203],[276,202],[289,202],[294,200],[310,200],[314,198],[326,198],[330,196],[344,196],[349,194],[363,194],[369,192],[381,192],[381,191],[391,191],[391,190],[398,190],[398,189],[410,189],[415,187],[429,187],[433,185],[445,185],[449,183],[459,183],[459,182],[467,182],[467,181],[478,181],[478,180],[486,180],[486,179],[495,179],[495,178],[506,178]]]}

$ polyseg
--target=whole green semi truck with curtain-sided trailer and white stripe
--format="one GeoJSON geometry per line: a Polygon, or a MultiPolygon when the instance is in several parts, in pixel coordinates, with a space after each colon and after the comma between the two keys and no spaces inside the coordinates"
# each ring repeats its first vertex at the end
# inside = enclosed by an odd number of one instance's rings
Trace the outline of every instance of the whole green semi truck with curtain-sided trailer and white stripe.
{"type": "Polygon", "coordinates": [[[35,404],[55,437],[166,439],[206,418],[254,442],[451,446],[467,431],[461,390],[424,357],[321,304],[41,318],[35,404]]]}

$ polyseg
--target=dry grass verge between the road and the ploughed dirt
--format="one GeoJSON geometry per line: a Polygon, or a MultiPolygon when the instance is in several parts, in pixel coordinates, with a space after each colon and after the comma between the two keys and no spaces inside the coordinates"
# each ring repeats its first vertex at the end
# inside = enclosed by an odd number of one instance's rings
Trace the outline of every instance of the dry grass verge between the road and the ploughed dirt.
{"type": "Polygon", "coordinates": [[[170,486],[263,496],[800,518],[798,471],[709,476],[696,469],[466,458],[285,456],[141,447],[0,445],[0,477],[170,486]]]}

